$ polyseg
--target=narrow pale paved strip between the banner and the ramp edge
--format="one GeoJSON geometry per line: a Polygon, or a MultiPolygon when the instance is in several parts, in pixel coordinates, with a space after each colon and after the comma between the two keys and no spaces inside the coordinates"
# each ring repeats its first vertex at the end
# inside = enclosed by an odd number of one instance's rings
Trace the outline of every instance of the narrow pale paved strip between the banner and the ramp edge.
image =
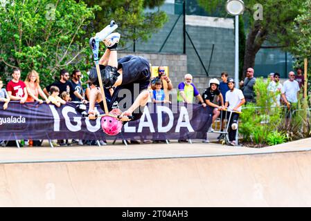
{"type": "Polygon", "coordinates": [[[14,162],[68,162],[102,160],[143,160],[179,157],[215,157],[223,155],[248,155],[288,151],[311,150],[311,138],[266,148],[247,148],[203,144],[194,140],[193,144],[172,141],[171,144],[130,144],[121,143],[108,146],[71,146],[71,147],[26,147],[0,148],[0,163],[14,162]]]}

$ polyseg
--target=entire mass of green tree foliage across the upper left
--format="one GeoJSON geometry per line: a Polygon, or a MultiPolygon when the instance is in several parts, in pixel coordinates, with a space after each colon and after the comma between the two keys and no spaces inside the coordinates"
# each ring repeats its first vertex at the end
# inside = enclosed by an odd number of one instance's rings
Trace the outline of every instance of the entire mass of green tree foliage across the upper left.
{"type": "MultiPolygon", "coordinates": [[[[0,5],[0,70],[10,79],[12,68],[40,73],[43,86],[59,70],[91,66],[89,38],[114,19],[121,40],[147,40],[167,21],[165,12],[145,12],[164,1],[6,0],[0,5]]],[[[103,44],[102,44],[103,46],[103,44]]],[[[1,77],[1,76],[0,76],[1,77]]]]}

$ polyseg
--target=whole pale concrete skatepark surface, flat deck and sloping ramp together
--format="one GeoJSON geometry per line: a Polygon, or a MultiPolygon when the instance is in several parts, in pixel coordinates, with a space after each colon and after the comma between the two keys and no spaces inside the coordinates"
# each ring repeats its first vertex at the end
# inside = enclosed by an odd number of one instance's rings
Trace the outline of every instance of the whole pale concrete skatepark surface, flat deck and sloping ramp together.
{"type": "Polygon", "coordinates": [[[0,148],[0,206],[311,206],[310,147],[0,148]]]}

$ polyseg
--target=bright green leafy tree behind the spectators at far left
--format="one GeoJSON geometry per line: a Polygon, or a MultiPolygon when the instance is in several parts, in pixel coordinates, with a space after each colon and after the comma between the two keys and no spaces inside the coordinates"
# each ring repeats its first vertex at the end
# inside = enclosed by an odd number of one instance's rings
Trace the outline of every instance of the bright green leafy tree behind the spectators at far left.
{"type": "Polygon", "coordinates": [[[62,68],[83,68],[89,47],[81,37],[94,19],[83,1],[8,0],[0,6],[0,63],[37,70],[48,84],[62,68]],[[69,66],[70,65],[70,66],[69,66]]]}

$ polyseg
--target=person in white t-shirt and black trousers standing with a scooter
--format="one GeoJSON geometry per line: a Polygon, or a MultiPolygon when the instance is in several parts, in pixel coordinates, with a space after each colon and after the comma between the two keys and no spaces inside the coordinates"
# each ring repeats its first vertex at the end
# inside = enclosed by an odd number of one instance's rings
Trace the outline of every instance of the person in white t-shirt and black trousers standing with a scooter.
{"type": "MultiPolygon", "coordinates": [[[[224,104],[224,108],[229,111],[234,111],[231,115],[231,119],[229,122],[229,144],[232,146],[236,145],[236,130],[238,129],[238,119],[240,114],[237,112],[242,111],[242,105],[245,104],[245,97],[242,93],[242,90],[238,88],[234,88],[234,79],[228,79],[228,87],[229,90],[226,92],[226,103],[224,104]]],[[[230,116],[229,114],[227,115],[230,116]]]]}

